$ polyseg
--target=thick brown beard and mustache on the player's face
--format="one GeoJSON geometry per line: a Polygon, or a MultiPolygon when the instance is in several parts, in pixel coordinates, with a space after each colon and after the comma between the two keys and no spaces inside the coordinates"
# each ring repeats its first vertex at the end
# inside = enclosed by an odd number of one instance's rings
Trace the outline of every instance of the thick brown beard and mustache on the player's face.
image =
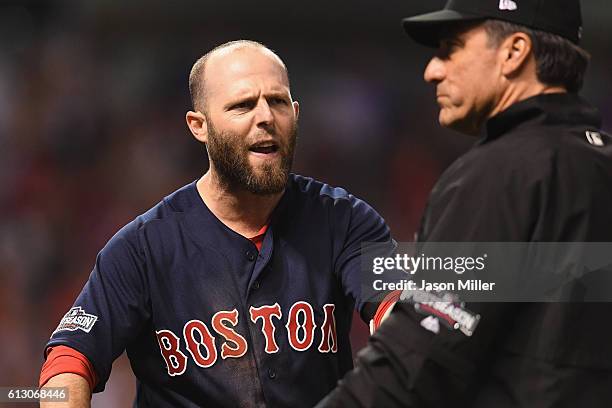
{"type": "Polygon", "coordinates": [[[216,170],[221,185],[230,191],[246,190],[253,194],[270,195],[283,191],[293,165],[293,153],[297,139],[297,123],[294,122],[286,143],[278,141],[280,163],[261,163],[256,170],[249,162],[249,145],[241,136],[232,132],[217,132],[208,122],[208,159],[216,170]]]}

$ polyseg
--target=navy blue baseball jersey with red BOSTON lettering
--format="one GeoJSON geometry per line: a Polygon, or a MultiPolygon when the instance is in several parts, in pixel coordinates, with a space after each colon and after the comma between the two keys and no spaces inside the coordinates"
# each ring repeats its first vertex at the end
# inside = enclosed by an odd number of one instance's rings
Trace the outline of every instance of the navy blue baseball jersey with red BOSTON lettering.
{"type": "Polygon", "coordinates": [[[290,175],[258,252],[193,182],[111,238],[47,347],[84,354],[94,391],[127,350],[136,406],[310,407],[352,367],[365,241],[391,242],[375,210],[290,175]]]}

